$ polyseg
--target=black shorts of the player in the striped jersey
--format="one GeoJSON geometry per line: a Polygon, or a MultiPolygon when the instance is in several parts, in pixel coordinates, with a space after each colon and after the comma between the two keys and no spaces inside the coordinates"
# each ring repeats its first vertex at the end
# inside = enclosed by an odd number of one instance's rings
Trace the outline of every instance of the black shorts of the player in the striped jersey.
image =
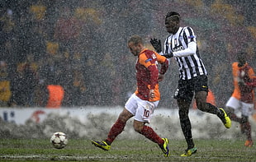
{"type": "Polygon", "coordinates": [[[175,91],[174,99],[183,99],[187,102],[191,102],[193,99],[194,92],[199,91],[208,92],[208,79],[207,76],[197,76],[190,80],[179,80],[178,88],[175,91]]]}

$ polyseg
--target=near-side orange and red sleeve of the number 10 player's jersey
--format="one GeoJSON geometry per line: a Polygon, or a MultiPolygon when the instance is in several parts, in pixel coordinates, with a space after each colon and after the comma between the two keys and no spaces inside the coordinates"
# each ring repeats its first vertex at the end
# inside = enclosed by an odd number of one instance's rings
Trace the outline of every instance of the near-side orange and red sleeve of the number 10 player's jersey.
{"type": "Polygon", "coordinates": [[[154,58],[147,57],[145,53],[140,54],[140,64],[144,65],[149,70],[149,89],[154,90],[158,84],[159,70],[154,58]]]}

